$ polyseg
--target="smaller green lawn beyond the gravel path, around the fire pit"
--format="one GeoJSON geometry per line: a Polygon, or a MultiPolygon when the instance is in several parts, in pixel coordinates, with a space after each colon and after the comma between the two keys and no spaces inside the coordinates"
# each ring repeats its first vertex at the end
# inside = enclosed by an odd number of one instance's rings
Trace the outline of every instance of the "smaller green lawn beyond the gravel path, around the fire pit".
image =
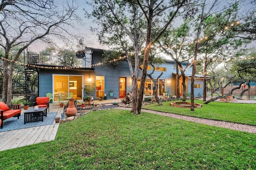
{"type": "MultiPolygon", "coordinates": [[[[174,100],[172,102],[176,101],[181,100],[174,100]]],[[[190,100],[187,100],[187,102],[190,102],[190,100]]],[[[194,100],[194,102],[202,104],[203,107],[195,108],[194,111],[190,111],[190,108],[171,107],[170,102],[163,102],[162,106],[158,106],[158,104],[151,104],[142,106],[142,108],[200,118],[256,125],[256,104],[224,102],[210,102],[209,104],[204,104],[201,100],[194,100]]]]}

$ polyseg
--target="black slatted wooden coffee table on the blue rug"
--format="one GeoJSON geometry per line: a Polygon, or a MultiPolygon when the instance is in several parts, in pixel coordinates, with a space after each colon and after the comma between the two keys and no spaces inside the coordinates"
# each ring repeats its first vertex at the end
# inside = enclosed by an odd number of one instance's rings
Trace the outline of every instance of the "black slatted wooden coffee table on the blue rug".
{"type": "Polygon", "coordinates": [[[28,109],[24,112],[24,124],[29,122],[44,121],[47,117],[47,107],[39,107],[38,110],[28,109]]]}

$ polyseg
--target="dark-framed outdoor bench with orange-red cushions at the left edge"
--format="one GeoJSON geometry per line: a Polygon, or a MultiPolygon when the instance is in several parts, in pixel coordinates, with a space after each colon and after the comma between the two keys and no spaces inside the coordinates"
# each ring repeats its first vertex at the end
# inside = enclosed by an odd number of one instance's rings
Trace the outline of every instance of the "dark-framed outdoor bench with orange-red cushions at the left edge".
{"type": "Polygon", "coordinates": [[[4,102],[0,102],[0,117],[1,117],[1,129],[3,129],[3,121],[10,117],[16,116],[20,119],[20,105],[9,105],[7,106],[4,102]]]}

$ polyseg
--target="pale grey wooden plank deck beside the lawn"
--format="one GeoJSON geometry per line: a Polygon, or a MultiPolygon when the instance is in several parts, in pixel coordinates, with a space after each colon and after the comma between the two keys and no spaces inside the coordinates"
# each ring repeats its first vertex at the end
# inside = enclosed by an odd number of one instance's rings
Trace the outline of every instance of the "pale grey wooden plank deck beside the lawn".
{"type": "MultiPolygon", "coordinates": [[[[49,112],[58,112],[56,117],[61,117],[64,107],[50,104],[49,112]]],[[[22,113],[24,110],[22,109],[22,113]]],[[[36,143],[54,141],[60,123],[52,125],[30,127],[13,131],[0,132],[0,151],[8,150],[36,143]]]]}

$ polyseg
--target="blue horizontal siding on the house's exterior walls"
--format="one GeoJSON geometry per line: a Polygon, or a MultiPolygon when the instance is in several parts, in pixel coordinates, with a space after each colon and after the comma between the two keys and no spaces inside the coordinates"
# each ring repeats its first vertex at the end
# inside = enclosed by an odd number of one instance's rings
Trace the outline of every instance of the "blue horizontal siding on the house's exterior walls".
{"type": "MultiPolygon", "coordinates": [[[[94,64],[94,71],[88,70],[50,70],[50,69],[40,69],[39,70],[39,96],[46,96],[46,93],[53,93],[52,89],[52,74],[67,74],[67,75],[83,75],[84,85],[91,84],[95,82],[96,76],[104,76],[105,77],[105,94],[107,94],[107,98],[109,99],[109,91],[110,89],[114,90],[114,95],[119,98],[119,78],[126,77],[126,93],[131,91],[132,88],[132,78],[130,75],[130,69],[128,63],[126,61],[118,61],[117,65],[114,66],[114,63],[109,63],[108,66],[100,65],[98,63],[102,62],[102,53],[101,49],[94,49],[92,59],[94,64]],[[98,64],[98,65],[97,65],[98,64]]],[[[174,61],[167,60],[166,63],[161,64],[162,67],[166,67],[166,72],[163,72],[160,79],[165,79],[165,90],[169,91],[169,94],[176,94],[176,75],[172,72],[175,72],[174,61]]],[[[150,73],[152,70],[148,70],[150,73]]],[[[192,72],[192,66],[188,68],[186,72],[192,72]]],[[[155,71],[152,74],[153,78],[157,78],[161,71],[155,71]]],[[[141,77],[141,70],[139,72],[139,78],[141,77]]],[[[187,92],[190,93],[190,79],[186,79],[187,83],[187,92]]],[[[201,84],[201,88],[195,88],[195,96],[198,93],[203,94],[203,80],[195,79],[195,84],[201,84]]],[[[85,92],[84,92],[85,95],[85,92]]],[[[92,96],[96,96],[96,91],[92,94],[92,96]]]]}

